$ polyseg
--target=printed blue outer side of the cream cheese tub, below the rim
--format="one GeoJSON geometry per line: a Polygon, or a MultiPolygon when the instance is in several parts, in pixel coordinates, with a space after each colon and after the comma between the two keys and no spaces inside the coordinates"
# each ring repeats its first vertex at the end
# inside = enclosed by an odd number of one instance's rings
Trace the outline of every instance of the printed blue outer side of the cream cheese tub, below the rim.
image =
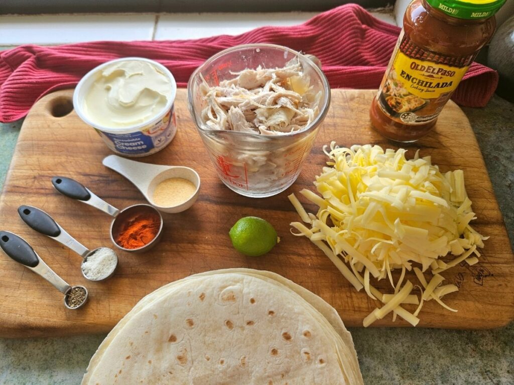
{"type": "Polygon", "coordinates": [[[154,125],[145,127],[141,131],[116,134],[97,129],[97,132],[104,138],[104,140],[112,142],[107,144],[117,152],[121,152],[126,155],[140,155],[148,152],[155,152],[162,146],[168,144],[175,134],[176,124],[175,114],[173,112],[172,107],[170,113],[168,113],[161,121],[154,125]]]}

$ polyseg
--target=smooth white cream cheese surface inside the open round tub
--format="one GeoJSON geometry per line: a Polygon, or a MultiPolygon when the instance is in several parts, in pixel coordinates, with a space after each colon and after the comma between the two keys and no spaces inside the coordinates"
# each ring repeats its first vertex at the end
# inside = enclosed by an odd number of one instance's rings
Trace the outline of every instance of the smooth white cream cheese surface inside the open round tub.
{"type": "Polygon", "coordinates": [[[125,128],[150,122],[163,112],[172,94],[169,77],[144,61],[104,67],[87,91],[83,109],[93,123],[125,128]]]}

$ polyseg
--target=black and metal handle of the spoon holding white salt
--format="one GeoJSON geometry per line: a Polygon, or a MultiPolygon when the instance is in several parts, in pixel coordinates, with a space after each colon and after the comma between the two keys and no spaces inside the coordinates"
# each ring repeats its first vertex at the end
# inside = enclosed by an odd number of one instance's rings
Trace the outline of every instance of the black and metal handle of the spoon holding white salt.
{"type": "Polygon", "coordinates": [[[18,207],[18,214],[20,214],[22,220],[32,229],[36,230],[36,232],[55,239],[72,249],[82,258],[89,254],[89,249],[86,246],[70,236],[66,230],[45,213],[45,211],[37,207],[22,205],[18,207]]]}

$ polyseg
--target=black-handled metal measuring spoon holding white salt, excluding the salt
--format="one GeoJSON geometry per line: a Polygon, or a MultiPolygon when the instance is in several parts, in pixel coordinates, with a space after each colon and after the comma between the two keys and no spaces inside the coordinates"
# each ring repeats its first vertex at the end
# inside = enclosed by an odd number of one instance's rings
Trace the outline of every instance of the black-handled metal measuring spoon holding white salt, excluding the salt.
{"type": "Polygon", "coordinates": [[[77,241],[75,238],[70,236],[64,228],[59,225],[56,221],[53,220],[45,211],[33,207],[33,206],[25,206],[22,205],[18,207],[18,214],[22,220],[28,224],[32,229],[36,230],[36,232],[46,235],[56,241],[62,243],[63,245],[72,249],[75,253],[82,257],[82,263],[80,265],[80,269],[82,271],[82,275],[84,278],[90,281],[102,281],[109,277],[112,277],[114,271],[116,270],[116,266],[118,265],[118,256],[114,252],[113,249],[108,247],[97,247],[93,250],[89,250],[82,243],[77,241]],[[116,263],[110,269],[105,271],[105,274],[100,278],[90,278],[84,271],[84,263],[87,261],[87,258],[100,251],[101,249],[107,249],[107,251],[112,252],[114,257],[116,258],[116,263]]]}

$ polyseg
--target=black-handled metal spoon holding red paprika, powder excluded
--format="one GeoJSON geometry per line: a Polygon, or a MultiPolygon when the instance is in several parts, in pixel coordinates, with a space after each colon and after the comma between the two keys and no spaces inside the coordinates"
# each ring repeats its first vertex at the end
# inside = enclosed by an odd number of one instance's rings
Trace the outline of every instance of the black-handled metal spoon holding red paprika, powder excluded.
{"type": "Polygon", "coordinates": [[[151,205],[144,203],[135,204],[128,206],[120,211],[116,207],[97,197],[88,188],[84,187],[81,183],[74,179],[65,177],[53,177],[52,184],[53,187],[55,187],[56,190],[59,191],[62,195],[77,199],[78,201],[96,207],[104,213],[114,217],[113,221],[111,222],[111,240],[116,245],[116,247],[120,248],[121,250],[128,253],[141,253],[148,251],[159,242],[162,235],[162,216],[160,215],[159,211],[151,205]],[[159,230],[157,231],[155,238],[152,239],[149,243],[146,243],[144,246],[138,248],[125,248],[118,244],[116,239],[118,239],[119,235],[125,230],[125,224],[131,223],[137,217],[145,214],[154,216],[156,215],[159,218],[159,230]]]}

